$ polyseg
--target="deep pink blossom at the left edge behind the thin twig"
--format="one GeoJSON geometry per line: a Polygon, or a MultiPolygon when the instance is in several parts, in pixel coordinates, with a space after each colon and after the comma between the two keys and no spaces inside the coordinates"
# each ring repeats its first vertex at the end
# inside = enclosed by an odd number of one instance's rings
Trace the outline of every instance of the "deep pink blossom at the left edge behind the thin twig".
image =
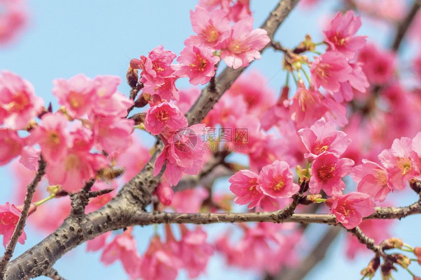
{"type": "MultiPolygon", "coordinates": [[[[23,206],[16,207],[13,204],[10,205],[9,202],[6,202],[6,204],[0,204],[0,235],[3,235],[4,248],[6,248],[13,232],[15,231],[15,227],[18,224],[19,217],[21,216],[22,208],[23,206]]],[[[28,215],[31,215],[36,209],[37,207],[35,204],[31,204],[28,215]]],[[[25,240],[26,234],[23,230],[18,241],[19,243],[24,244],[25,240]]]]}

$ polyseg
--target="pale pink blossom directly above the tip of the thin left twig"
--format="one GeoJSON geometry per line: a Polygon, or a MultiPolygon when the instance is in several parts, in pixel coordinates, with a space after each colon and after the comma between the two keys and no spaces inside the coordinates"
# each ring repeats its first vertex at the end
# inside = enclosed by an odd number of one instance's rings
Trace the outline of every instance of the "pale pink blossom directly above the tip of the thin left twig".
{"type": "Polygon", "coordinates": [[[41,154],[47,163],[59,162],[72,145],[69,131],[66,129],[67,118],[60,112],[47,113],[41,118],[40,126],[31,130],[29,144],[38,143],[41,154]]]}

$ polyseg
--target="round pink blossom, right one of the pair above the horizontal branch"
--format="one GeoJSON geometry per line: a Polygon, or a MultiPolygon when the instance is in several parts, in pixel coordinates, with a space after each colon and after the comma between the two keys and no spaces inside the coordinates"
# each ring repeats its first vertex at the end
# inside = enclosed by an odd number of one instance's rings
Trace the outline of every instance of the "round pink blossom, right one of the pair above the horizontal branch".
{"type": "Polygon", "coordinates": [[[263,194],[273,198],[291,197],[300,190],[300,186],[293,182],[294,174],[288,163],[275,160],[271,165],[262,168],[257,183],[263,194]]]}

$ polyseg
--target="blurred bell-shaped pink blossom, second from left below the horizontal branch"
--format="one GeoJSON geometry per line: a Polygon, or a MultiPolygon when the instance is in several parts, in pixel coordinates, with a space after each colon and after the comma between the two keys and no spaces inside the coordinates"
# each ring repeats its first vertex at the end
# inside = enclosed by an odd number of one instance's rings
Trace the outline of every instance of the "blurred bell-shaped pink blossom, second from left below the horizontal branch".
{"type": "Polygon", "coordinates": [[[100,260],[103,264],[110,265],[119,259],[130,278],[137,279],[140,256],[136,249],[136,240],[130,232],[131,230],[127,230],[114,237],[113,241],[105,246],[100,260]]]}

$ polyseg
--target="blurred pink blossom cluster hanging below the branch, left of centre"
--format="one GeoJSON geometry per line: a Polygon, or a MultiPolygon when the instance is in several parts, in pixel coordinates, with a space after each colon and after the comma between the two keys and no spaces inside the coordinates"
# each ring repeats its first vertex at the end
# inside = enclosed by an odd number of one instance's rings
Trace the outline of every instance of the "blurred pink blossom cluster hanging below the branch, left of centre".
{"type": "Polygon", "coordinates": [[[101,262],[109,265],[119,259],[131,279],[174,280],[180,269],[186,269],[189,278],[198,277],[213,255],[213,246],[206,242],[207,234],[200,227],[190,231],[180,225],[181,239],[176,240],[170,225],[166,225],[166,241],[155,235],[140,257],[132,228],[116,235],[109,243],[110,233],[88,242],[88,251],[103,249],[101,262]]]}

